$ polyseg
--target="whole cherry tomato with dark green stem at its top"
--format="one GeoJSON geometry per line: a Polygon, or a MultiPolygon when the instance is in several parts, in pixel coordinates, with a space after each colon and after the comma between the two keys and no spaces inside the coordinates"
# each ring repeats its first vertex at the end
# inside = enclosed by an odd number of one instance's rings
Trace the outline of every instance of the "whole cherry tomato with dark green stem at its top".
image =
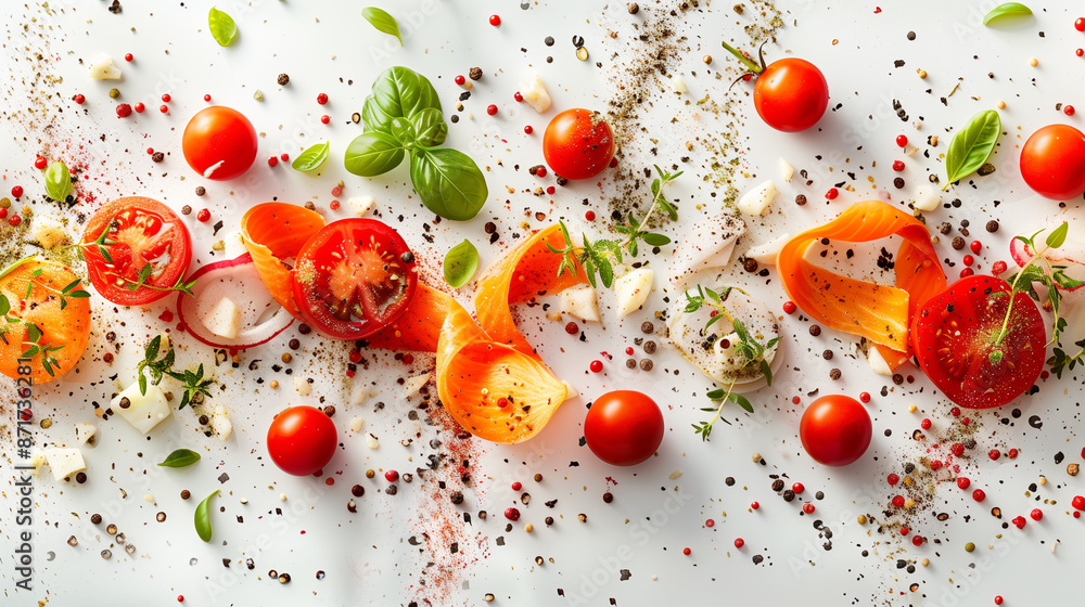
{"type": "Polygon", "coordinates": [[[804,131],[829,106],[829,85],[813,63],[797,57],[775,61],[757,75],[753,103],[765,124],[778,131],[804,131]]]}

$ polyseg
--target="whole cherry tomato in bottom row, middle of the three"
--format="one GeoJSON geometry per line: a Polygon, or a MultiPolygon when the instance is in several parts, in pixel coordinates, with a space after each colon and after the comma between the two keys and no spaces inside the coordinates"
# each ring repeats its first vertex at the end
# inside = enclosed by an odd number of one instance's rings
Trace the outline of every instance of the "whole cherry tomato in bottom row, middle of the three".
{"type": "Polygon", "coordinates": [[[633,466],[651,457],[663,442],[663,412],[641,392],[607,392],[591,403],[584,438],[603,462],[633,466]]]}

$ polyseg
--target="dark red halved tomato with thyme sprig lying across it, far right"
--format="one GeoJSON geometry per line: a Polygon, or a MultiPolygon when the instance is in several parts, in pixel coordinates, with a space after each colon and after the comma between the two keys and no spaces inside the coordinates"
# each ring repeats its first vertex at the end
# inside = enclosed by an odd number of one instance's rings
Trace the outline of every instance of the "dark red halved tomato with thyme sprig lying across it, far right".
{"type": "Polygon", "coordinates": [[[932,297],[916,314],[911,340],[919,367],[961,406],[1006,404],[1043,371],[1044,319],[1029,295],[1018,292],[1011,299],[1011,293],[1006,281],[976,274],[932,297]]]}

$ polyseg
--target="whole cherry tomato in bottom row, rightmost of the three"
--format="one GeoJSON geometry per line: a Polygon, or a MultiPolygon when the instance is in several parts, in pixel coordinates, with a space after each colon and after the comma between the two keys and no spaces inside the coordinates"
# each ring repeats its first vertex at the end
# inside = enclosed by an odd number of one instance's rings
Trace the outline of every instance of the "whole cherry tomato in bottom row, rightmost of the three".
{"type": "Polygon", "coordinates": [[[810,457],[826,466],[846,466],[867,452],[873,430],[859,401],[824,396],[806,408],[799,437],[810,457]]]}

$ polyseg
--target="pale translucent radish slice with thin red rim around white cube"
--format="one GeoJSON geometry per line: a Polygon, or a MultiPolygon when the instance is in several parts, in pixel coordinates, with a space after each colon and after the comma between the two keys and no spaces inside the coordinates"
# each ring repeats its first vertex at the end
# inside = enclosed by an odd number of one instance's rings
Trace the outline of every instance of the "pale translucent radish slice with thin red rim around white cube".
{"type": "Polygon", "coordinates": [[[189,280],[196,284],[192,295],[177,296],[177,314],[190,335],[215,348],[243,350],[270,341],[282,333],[294,317],[280,306],[260,280],[253,256],[216,261],[196,270],[189,280]],[[222,298],[241,308],[241,327],[233,338],[216,335],[203,320],[222,298]]]}

